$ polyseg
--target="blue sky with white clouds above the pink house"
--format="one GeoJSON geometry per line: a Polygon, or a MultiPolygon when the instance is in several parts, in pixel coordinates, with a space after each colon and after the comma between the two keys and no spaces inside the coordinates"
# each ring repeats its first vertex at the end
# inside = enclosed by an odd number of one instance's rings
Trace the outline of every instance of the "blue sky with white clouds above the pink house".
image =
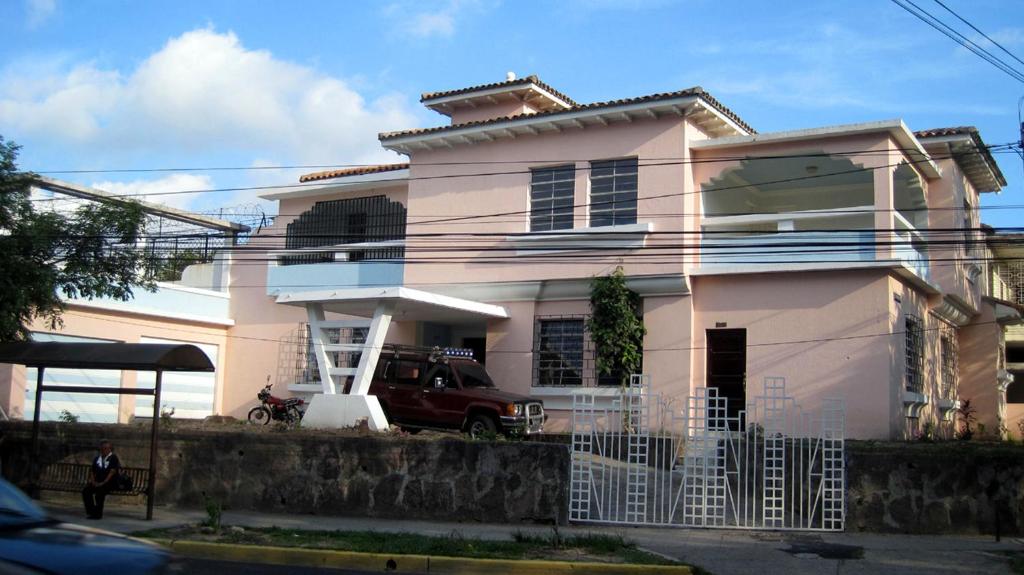
{"type": "MultiPolygon", "coordinates": [[[[1024,2],[946,2],[1024,58],[1024,2]]],[[[37,171],[389,161],[377,132],[446,120],[421,92],[507,71],[580,102],[700,85],[761,132],[900,118],[974,125],[989,144],[1019,138],[1024,95],[889,0],[0,0],[0,134],[37,171]]],[[[1021,159],[997,159],[1010,185],[983,206],[1024,205],[1021,159]]],[[[55,176],[136,192],[304,171],[55,176]]],[[[200,211],[254,197],[163,196],[200,211]]]]}

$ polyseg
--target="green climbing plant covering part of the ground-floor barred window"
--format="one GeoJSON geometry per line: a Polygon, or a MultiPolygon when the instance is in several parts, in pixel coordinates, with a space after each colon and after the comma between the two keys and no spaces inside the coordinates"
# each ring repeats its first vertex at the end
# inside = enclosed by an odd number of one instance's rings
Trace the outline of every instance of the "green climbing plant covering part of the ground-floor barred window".
{"type": "Polygon", "coordinates": [[[614,377],[629,384],[631,373],[643,364],[643,337],[647,335],[640,315],[640,296],[626,285],[622,266],[590,282],[591,316],[587,330],[596,348],[598,377],[614,377]]]}

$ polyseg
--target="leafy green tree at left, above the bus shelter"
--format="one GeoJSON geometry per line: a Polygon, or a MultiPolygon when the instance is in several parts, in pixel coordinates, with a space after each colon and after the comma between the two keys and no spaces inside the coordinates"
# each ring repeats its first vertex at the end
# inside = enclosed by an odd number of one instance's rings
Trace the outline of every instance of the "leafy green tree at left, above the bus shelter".
{"type": "Polygon", "coordinates": [[[61,325],[61,296],[129,300],[154,289],[137,246],[145,224],[134,202],[87,202],[72,213],[36,210],[36,175],[17,170],[20,146],[0,136],[0,341],[31,338],[42,318],[61,325]]]}

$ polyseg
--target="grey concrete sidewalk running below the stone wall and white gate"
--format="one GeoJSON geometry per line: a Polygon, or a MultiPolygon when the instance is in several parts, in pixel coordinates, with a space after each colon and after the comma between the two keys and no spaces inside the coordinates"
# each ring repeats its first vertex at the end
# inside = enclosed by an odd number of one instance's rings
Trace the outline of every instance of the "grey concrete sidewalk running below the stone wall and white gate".
{"type": "MultiPolygon", "coordinates": [[[[102,519],[88,522],[80,507],[66,501],[43,501],[58,519],[131,533],[158,527],[199,523],[206,513],[197,510],[155,510],[145,521],[141,506],[109,505],[102,519]]],[[[224,525],[286,527],[316,530],[374,530],[508,539],[519,531],[550,534],[551,527],[479,523],[432,523],[388,519],[275,515],[226,511],[224,525]]],[[[599,532],[620,534],[639,546],[691,565],[714,575],[808,574],[1010,574],[1008,552],[1024,554],[1024,539],[992,537],[890,535],[871,533],[780,533],[714,529],[571,526],[563,534],[599,532]],[[860,559],[856,559],[860,557],[860,559]]]]}

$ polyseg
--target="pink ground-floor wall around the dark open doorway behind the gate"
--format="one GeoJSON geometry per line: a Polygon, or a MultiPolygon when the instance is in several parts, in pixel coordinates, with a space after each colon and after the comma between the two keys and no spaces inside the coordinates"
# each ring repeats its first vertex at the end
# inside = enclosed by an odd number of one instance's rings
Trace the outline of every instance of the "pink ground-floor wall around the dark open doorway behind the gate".
{"type": "Polygon", "coordinates": [[[745,328],[749,399],[765,377],[783,377],[806,410],[819,409],[825,398],[845,399],[848,437],[890,437],[893,338],[885,272],[691,279],[693,387],[703,385],[706,329],[745,328]]]}

